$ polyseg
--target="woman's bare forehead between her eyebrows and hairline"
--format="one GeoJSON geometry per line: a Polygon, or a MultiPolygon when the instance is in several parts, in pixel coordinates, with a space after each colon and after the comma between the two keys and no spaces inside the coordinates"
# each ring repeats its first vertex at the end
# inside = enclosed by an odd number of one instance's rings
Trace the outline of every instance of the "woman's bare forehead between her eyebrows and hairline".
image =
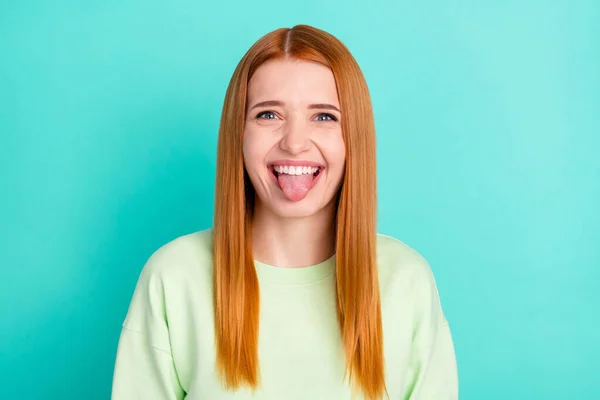
{"type": "Polygon", "coordinates": [[[248,102],[266,100],[339,106],[331,69],[304,60],[271,60],[256,69],[248,83],[248,102]]]}

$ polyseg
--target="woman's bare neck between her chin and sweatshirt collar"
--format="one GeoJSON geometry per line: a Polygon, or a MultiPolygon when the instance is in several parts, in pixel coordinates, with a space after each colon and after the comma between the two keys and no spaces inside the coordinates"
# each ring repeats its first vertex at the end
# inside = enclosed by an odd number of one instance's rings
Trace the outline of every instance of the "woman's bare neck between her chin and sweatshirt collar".
{"type": "Polygon", "coordinates": [[[252,218],[254,259],[278,267],[318,264],[335,253],[335,202],[314,215],[283,218],[257,201],[252,218]]]}

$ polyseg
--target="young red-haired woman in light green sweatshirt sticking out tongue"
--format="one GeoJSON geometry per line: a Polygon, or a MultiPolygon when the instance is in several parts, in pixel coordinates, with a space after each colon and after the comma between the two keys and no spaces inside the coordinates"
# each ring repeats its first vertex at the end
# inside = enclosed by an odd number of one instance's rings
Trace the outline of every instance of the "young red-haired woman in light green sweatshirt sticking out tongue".
{"type": "Polygon", "coordinates": [[[225,97],[214,227],[144,266],[113,399],[456,399],[431,269],[376,233],[375,172],[346,47],[306,25],[258,40],[225,97]]]}

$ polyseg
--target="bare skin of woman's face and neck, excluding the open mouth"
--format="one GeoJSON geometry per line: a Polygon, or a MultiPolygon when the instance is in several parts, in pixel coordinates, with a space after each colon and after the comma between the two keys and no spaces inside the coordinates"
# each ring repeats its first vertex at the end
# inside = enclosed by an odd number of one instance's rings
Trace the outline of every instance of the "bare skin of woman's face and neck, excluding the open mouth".
{"type": "Polygon", "coordinates": [[[254,258],[289,268],[322,262],[335,252],[334,200],[345,167],[333,73],[314,62],[268,61],[248,83],[247,104],[243,153],[257,194],[254,258]],[[271,176],[268,166],[277,160],[312,161],[324,169],[308,195],[294,202],[271,176]]]}

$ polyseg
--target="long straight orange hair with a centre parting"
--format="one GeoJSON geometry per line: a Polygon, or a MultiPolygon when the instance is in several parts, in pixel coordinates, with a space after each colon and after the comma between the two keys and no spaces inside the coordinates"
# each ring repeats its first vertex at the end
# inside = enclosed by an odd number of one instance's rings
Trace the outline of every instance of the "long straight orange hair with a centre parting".
{"type": "Polygon", "coordinates": [[[375,253],[375,124],[364,76],[348,49],[322,30],[297,25],[260,38],[238,64],[225,96],[217,151],[213,226],[217,370],[226,387],[257,388],[259,285],[252,255],[255,191],[243,164],[248,82],[276,58],[321,63],[333,71],[346,147],[336,229],[337,315],[346,376],[369,399],[387,393],[375,253]]]}

